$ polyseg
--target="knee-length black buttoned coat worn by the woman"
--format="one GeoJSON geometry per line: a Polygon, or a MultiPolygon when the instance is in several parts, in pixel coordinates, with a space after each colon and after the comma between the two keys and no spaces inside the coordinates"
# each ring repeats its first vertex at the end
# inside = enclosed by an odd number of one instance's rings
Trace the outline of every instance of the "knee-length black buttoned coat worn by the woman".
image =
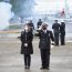
{"type": "Polygon", "coordinates": [[[25,31],[21,32],[21,54],[33,53],[32,40],[33,40],[32,32],[25,32],[25,31]],[[24,47],[24,43],[28,43],[28,47],[24,47]]]}

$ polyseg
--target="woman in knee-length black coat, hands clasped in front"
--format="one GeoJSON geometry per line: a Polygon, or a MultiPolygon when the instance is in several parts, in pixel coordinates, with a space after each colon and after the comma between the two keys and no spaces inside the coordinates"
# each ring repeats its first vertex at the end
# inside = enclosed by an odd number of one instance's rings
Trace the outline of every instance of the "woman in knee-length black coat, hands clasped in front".
{"type": "Polygon", "coordinates": [[[32,48],[33,34],[30,31],[29,25],[24,27],[24,31],[21,32],[21,54],[24,55],[25,69],[30,69],[31,54],[33,54],[32,48]]]}

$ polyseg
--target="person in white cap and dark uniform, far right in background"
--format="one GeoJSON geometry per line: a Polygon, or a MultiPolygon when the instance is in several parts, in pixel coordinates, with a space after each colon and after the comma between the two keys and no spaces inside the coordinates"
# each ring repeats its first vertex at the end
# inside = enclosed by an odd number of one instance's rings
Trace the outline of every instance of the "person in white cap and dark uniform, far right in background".
{"type": "Polygon", "coordinates": [[[65,44],[65,23],[64,23],[64,21],[61,21],[60,39],[61,39],[61,45],[64,45],[65,44]]]}

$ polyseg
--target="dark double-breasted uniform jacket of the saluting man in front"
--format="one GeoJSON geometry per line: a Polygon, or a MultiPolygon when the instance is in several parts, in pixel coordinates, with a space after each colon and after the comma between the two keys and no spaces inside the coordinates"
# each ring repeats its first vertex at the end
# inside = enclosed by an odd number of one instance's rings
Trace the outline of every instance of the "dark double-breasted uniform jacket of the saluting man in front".
{"type": "Polygon", "coordinates": [[[43,32],[42,30],[40,30],[39,38],[40,38],[39,48],[50,50],[51,40],[54,41],[52,31],[47,30],[47,32],[43,32]]]}

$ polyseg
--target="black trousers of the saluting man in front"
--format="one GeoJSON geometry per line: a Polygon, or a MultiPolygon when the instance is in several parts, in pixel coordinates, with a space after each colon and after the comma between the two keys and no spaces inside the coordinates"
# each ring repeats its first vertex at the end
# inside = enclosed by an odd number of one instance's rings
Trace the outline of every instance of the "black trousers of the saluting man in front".
{"type": "Polygon", "coordinates": [[[42,68],[49,68],[50,64],[50,53],[48,49],[40,49],[42,68]]]}

